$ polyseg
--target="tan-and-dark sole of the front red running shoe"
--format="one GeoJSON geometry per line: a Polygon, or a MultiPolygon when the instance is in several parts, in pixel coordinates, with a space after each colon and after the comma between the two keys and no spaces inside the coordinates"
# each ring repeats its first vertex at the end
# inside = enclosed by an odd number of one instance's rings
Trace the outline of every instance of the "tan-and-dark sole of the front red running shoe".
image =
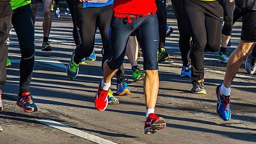
{"type": "Polygon", "coordinates": [[[150,129],[144,130],[144,134],[154,134],[157,131],[164,129],[165,127],[166,127],[166,122],[163,118],[160,117],[159,120],[157,120],[151,125],[150,129]]]}

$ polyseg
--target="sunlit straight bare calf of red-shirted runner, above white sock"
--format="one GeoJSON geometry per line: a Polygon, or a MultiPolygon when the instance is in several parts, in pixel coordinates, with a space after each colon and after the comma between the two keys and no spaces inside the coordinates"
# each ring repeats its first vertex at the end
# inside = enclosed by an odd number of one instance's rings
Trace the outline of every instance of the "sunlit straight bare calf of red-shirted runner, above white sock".
{"type": "Polygon", "coordinates": [[[155,109],[159,88],[158,70],[145,70],[144,94],[146,109],[155,109]]]}

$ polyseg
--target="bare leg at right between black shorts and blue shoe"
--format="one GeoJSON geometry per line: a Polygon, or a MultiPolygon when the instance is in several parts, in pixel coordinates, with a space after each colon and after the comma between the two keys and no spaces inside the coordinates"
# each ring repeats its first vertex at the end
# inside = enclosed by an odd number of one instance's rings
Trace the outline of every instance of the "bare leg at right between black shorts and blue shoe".
{"type": "Polygon", "coordinates": [[[232,52],[227,63],[226,74],[224,78],[225,88],[230,88],[234,77],[237,74],[243,60],[252,53],[255,43],[246,43],[240,40],[238,47],[232,52]]]}

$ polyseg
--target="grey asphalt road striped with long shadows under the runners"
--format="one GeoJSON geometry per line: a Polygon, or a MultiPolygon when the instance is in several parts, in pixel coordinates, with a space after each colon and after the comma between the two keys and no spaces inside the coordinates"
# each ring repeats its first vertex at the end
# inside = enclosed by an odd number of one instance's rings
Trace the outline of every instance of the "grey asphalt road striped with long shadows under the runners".
{"type": "MultiPolygon", "coordinates": [[[[75,48],[72,21],[63,12],[60,18],[53,17],[49,38],[53,51],[43,52],[40,12],[35,23],[36,63],[31,83],[33,101],[39,110],[25,113],[15,104],[19,90],[20,51],[17,35],[13,31],[9,47],[12,66],[7,69],[8,79],[2,89],[5,111],[0,113],[0,125],[4,129],[0,132],[0,143],[256,143],[256,75],[246,74],[244,66],[241,66],[239,77],[234,79],[232,85],[232,119],[222,121],[215,111],[215,88],[223,81],[226,64],[217,63],[217,53],[206,53],[207,95],[191,94],[191,79],[179,77],[181,57],[177,48],[177,22],[175,19],[168,19],[168,23],[175,30],[166,40],[166,47],[170,48],[168,52],[174,62],[159,64],[160,86],[156,106],[156,113],[166,119],[167,127],[164,130],[153,135],[144,134],[143,82],[132,82],[131,65],[127,57],[124,67],[125,74],[130,79],[128,86],[131,95],[118,97],[120,104],[109,105],[104,112],[97,111],[93,102],[102,78],[102,44],[99,32],[95,38],[97,60],[80,66],[77,79],[70,80],[65,67],[75,48]],[[50,122],[41,123],[43,120],[50,122]]],[[[241,23],[238,22],[234,26],[233,46],[228,48],[229,53],[238,45],[240,33],[241,23]]],[[[139,64],[142,62],[140,60],[139,64]]],[[[114,93],[115,85],[114,80],[111,87],[114,93]]]]}

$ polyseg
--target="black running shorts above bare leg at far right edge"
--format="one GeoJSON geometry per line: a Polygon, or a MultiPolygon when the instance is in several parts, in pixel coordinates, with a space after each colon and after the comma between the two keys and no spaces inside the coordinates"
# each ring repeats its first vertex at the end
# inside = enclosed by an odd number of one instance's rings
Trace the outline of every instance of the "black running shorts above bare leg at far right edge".
{"type": "Polygon", "coordinates": [[[256,10],[243,9],[241,40],[256,42],[256,10]]]}

